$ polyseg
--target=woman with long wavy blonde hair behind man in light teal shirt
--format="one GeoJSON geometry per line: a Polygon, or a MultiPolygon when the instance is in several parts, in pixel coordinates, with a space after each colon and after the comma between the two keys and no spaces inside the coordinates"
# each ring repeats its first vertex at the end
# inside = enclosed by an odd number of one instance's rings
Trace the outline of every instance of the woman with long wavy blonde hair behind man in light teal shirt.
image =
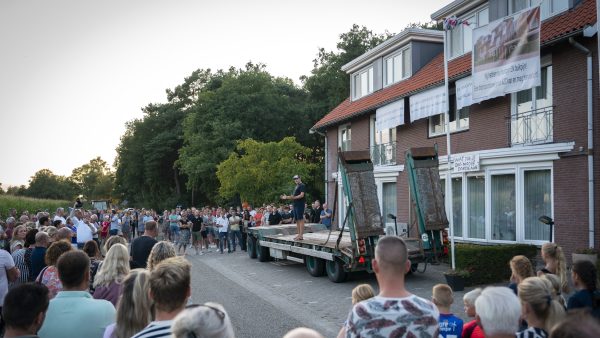
{"type": "Polygon", "coordinates": [[[121,243],[114,244],[94,278],[94,298],[108,300],[117,306],[123,280],[128,274],[129,251],[121,243]]]}

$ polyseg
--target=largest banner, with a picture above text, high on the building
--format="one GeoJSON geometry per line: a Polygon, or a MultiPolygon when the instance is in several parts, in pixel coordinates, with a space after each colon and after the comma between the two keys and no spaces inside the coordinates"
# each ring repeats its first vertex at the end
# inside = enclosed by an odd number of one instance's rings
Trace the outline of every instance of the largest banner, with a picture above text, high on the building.
{"type": "Polygon", "coordinates": [[[473,103],[540,85],[540,7],[473,30],[473,103]]]}

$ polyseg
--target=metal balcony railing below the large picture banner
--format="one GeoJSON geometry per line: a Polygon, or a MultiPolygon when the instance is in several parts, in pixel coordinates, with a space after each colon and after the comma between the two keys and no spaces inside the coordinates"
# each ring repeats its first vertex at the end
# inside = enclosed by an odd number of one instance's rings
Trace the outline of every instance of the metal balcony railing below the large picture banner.
{"type": "Polygon", "coordinates": [[[552,142],[552,116],[554,107],[545,107],[512,115],[510,145],[542,144],[552,142]]]}

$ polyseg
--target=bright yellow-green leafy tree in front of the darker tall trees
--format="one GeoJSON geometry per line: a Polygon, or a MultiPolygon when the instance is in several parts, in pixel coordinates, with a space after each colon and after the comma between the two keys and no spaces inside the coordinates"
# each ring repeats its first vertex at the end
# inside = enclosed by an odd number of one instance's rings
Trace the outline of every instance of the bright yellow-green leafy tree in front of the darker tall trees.
{"type": "Polygon", "coordinates": [[[282,194],[290,194],[293,175],[306,177],[315,167],[306,161],[310,149],[293,137],[268,143],[247,139],[238,142],[236,150],[218,165],[219,194],[239,195],[254,205],[279,201],[282,194]]]}

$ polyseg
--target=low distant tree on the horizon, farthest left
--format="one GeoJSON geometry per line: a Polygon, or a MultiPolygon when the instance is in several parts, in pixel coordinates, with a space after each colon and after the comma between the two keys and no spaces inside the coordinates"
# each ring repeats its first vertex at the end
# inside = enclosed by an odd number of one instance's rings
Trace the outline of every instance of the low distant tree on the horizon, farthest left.
{"type": "Polygon", "coordinates": [[[78,186],[71,179],[55,175],[49,169],[36,172],[29,180],[25,195],[34,198],[74,200],[78,186]]]}

